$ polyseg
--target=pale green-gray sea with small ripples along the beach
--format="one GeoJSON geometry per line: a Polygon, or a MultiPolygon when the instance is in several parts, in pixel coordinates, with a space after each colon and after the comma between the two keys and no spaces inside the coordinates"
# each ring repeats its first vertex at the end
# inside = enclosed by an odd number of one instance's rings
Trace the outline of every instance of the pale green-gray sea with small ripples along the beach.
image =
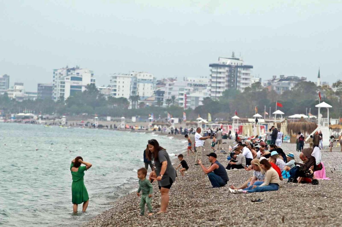
{"type": "Polygon", "coordinates": [[[138,187],[148,139],[175,160],[187,146],[185,139],[130,130],[0,123],[0,133],[0,226],[79,226],[138,187]],[[84,176],[87,212],[80,204],[74,214],[70,164],[77,156],[92,167],[84,176]]]}

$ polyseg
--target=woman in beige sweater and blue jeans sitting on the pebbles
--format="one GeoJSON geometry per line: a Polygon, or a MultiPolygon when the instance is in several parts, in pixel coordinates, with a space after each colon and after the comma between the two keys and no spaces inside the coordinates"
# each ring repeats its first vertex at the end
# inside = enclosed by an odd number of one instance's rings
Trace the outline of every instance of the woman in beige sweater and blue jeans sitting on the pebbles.
{"type": "Polygon", "coordinates": [[[272,168],[271,163],[269,163],[266,159],[262,159],[260,161],[261,169],[266,172],[264,183],[260,186],[252,185],[244,190],[242,189],[231,189],[229,191],[233,193],[253,193],[253,192],[263,192],[263,191],[277,191],[279,189],[279,175],[277,171],[272,168]]]}

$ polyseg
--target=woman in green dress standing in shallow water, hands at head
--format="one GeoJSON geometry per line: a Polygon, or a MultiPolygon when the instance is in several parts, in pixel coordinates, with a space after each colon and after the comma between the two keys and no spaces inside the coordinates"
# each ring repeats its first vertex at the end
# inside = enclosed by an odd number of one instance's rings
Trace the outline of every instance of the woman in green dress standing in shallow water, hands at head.
{"type": "Polygon", "coordinates": [[[73,177],[73,184],[71,185],[71,193],[73,195],[73,204],[74,204],[74,213],[77,212],[78,204],[83,203],[82,212],[86,212],[89,196],[87,192],[86,186],[84,186],[83,176],[84,171],[88,170],[91,167],[91,163],[84,162],[83,158],[78,156],[73,161],[71,161],[70,171],[71,176],[73,177]],[[86,166],[81,166],[84,164],[86,166]]]}

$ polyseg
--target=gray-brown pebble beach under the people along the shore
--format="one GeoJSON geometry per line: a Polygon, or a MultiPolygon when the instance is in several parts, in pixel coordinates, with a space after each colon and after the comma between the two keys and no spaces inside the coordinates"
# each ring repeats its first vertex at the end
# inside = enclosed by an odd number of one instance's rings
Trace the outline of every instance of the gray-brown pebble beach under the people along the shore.
{"type": "MultiPolygon", "coordinates": [[[[174,136],[174,135],[173,135],[174,136]]],[[[180,143],[184,135],[174,136],[174,143],[180,143]]],[[[193,140],[192,136],[192,140],[193,140]]],[[[223,150],[228,152],[233,140],[224,139],[223,150]]],[[[202,152],[202,162],[209,166],[206,154],[211,152],[210,140],[206,140],[202,152]]],[[[335,143],[336,145],[336,143],[335,143]]],[[[162,144],[161,144],[162,146],[162,144]]],[[[186,146],[186,145],[184,145],[186,146]]],[[[217,146],[217,145],[216,145],[217,146]]],[[[285,153],[292,152],[300,161],[295,144],[283,143],[285,153]]],[[[308,147],[305,144],[306,148],[308,147]]],[[[189,169],[178,177],[170,189],[170,202],[167,213],[140,216],[140,197],[136,192],[118,198],[113,208],[95,216],[83,227],[97,226],[339,226],[342,221],[342,196],[338,189],[342,170],[342,152],[334,146],[322,150],[326,175],[330,180],[319,180],[318,185],[287,183],[284,179],[278,191],[250,194],[233,194],[228,188],[240,186],[253,175],[253,171],[228,170],[229,182],[221,188],[212,188],[210,181],[200,166],[195,164],[195,155],[184,155],[189,169]],[[262,198],[263,203],[252,204],[252,199],[262,198]]],[[[216,151],[218,161],[228,164],[227,155],[216,151]]],[[[174,167],[179,164],[175,161],[174,167]]],[[[143,166],[143,163],[142,163],[143,166]]],[[[152,206],[160,209],[158,184],[153,183],[152,206]]],[[[89,203],[91,205],[91,201],[89,203]]]]}

